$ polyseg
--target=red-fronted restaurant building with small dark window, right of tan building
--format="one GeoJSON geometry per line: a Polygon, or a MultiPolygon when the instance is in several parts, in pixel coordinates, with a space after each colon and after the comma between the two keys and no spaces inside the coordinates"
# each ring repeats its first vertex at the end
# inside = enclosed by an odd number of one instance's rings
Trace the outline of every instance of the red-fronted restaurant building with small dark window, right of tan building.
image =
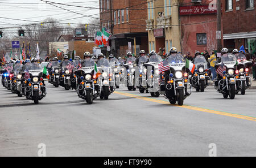
{"type": "Polygon", "coordinates": [[[184,0],[179,6],[181,46],[193,56],[195,51],[216,50],[217,10],[207,0],[184,0]]]}

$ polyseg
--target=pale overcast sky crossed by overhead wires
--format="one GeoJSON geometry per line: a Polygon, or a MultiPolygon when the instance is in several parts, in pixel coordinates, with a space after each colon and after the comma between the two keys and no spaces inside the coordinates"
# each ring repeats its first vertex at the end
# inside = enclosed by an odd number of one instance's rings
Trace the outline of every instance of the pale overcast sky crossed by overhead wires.
{"type": "MultiPolygon", "coordinates": [[[[83,7],[99,7],[98,0],[48,0],[48,2],[65,3],[65,5],[83,7]]],[[[36,23],[49,17],[60,20],[61,23],[67,23],[67,25],[68,23],[88,23],[93,18],[85,17],[83,15],[92,15],[95,18],[99,18],[100,16],[98,9],[64,6],[59,4],[54,5],[55,6],[52,6],[39,0],[0,0],[0,28],[36,23]],[[69,11],[56,6],[65,8],[69,11]],[[11,20],[10,18],[23,20],[11,20]]]]}

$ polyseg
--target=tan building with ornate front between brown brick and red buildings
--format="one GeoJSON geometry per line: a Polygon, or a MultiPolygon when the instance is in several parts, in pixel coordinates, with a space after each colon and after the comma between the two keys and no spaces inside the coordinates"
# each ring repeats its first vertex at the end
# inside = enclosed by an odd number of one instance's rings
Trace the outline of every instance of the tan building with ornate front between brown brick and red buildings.
{"type": "Polygon", "coordinates": [[[175,46],[181,50],[177,0],[147,0],[148,49],[166,53],[175,46]]]}

